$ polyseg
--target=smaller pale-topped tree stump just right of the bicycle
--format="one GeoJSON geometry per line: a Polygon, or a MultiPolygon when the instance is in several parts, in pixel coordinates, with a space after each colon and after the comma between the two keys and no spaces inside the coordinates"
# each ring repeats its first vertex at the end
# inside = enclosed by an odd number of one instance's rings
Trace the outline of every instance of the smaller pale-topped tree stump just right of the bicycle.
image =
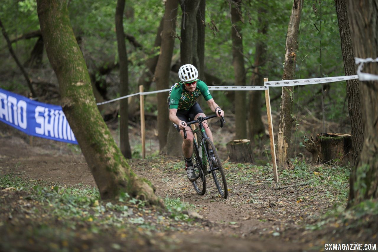
{"type": "Polygon", "coordinates": [[[227,143],[230,161],[238,163],[253,163],[253,152],[248,139],[233,140],[227,143]]]}

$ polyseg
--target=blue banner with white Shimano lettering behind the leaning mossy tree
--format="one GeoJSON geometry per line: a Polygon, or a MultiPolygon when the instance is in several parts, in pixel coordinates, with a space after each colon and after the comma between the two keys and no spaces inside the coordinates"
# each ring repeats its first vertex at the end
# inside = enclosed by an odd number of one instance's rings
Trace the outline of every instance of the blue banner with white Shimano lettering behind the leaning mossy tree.
{"type": "Polygon", "coordinates": [[[77,144],[62,107],[0,89],[0,121],[35,137],[77,144]]]}

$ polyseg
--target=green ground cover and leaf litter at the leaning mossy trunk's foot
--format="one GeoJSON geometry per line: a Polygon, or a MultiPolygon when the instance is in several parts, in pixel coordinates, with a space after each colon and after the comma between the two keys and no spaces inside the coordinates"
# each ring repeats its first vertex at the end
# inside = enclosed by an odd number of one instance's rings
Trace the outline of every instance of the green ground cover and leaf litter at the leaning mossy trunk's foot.
{"type": "MultiPolygon", "coordinates": [[[[3,191],[6,192],[6,196],[2,198],[20,199],[14,201],[13,205],[2,204],[2,212],[10,211],[10,215],[21,215],[20,218],[27,216],[30,220],[56,219],[62,226],[73,230],[77,223],[82,223],[96,233],[108,226],[166,230],[170,228],[166,224],[167,219],[170,222],[192,220],[185,213],[192,205],[182,202],[180,198],[167,197],[164,200],[167,211],[161,212],[160,209],[146,207],[144,201],[131,198],[127,193],[122,194],[117,202],[105,202],[101,201],[96,187],[67,187],[43,181],[28,181],[12,174],[0,176],[0,188],[4,188],[3,191]],[[20,192],[22,196],[19,196],[20,192]],[[28,207],[25,208],[24,205],[28,207]],[[20,210],[14,211],[18,208],[20,210]]],[[[0,223],[4,224],[4,221],[5,219],[0,219],[0,223]]]]}

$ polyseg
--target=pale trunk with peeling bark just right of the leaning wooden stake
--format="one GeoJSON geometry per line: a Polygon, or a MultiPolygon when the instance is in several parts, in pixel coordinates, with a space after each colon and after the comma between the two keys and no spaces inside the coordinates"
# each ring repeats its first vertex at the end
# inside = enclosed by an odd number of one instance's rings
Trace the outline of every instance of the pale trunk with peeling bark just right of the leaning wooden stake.
{"type": "MultiPolygon", "coordinates": [[[[282,79],[293,79],[295,76],[296,50],[298,49],[298,30],[301,22],[302,0],[294,0],[286,37],[285,67],[282,79]]],[[[282,87],[282,100],[280,111],[280,126],[277,141],[277,166],[289,168],[291,126],[294,121],[293,114],[293,87],[282,87]]]]}

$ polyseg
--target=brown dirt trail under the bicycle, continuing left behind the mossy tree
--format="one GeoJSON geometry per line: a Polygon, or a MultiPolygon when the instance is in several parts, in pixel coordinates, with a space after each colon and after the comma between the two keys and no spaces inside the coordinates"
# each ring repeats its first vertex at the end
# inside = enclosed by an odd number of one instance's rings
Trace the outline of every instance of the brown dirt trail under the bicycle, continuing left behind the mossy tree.
{"type": "MultiPolygon", "coordinates": [[[[32,147],[27,136],[12,129],[6,128],[0,133],[0,175],[14,173],[33,180],[95,186],[84,157],[73,151],[74,147],[42,138],[34,138],[32,147]]],[[[227,163],[228,199],[219,197],[211,176],[207,177],[206,194],[199,196],[184,170],[177,168],[181,162],[178,157],[129,160],[138,176],[146,177],[155,185],[158,196],[180,198],[193,204],[199,214],[200,228],[188,226],[185,232],[170,234],[175,238],[172,250],[294,251],[324,248],[327,241],[322,234],[314,236],[305,230],[305,224],[314,223],[330,207],[327,199],[317,197],[322,193],[321,188],[316,192],[309,186],[274,190],[272,180],[247,177],[247,168],[235,169],[236,164],[227,163]],[[247,179],[242,181],[242,178],[247,179]],[[299,204],[299,198],[305,202],[299,204]]]]}

